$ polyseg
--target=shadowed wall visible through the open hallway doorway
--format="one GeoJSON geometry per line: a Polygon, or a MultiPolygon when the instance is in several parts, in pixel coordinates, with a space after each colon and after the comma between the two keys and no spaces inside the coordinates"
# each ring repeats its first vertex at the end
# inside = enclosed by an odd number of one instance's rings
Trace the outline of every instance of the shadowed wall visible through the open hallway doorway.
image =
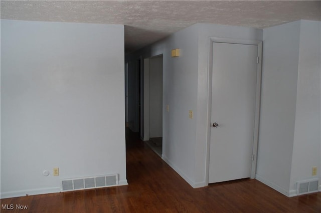
{"type": "Polygon", "coordinates": [[[149,59],[149,138],[163,136],[163,56],[149,59]]]}

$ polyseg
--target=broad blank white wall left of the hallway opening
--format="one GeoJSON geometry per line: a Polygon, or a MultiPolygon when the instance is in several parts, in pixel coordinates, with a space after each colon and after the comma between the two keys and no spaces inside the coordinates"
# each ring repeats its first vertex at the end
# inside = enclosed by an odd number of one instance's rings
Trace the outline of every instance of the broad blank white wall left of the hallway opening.
{"type": "Polygon", "coordinates": [[[127,183],[123,26],[1,20],[1,62],[2,198],[127,183]]]}

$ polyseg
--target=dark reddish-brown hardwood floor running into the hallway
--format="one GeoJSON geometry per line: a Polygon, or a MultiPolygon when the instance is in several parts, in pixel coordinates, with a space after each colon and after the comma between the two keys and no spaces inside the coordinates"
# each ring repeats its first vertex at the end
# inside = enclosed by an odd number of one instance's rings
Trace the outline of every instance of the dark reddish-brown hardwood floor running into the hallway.
{"type": "Polygon", "coordinates": [[[126,137],[129,185],[2,199],[15,209],[1,212],[321,212],[321,193],[288,198],[253,179],[194,189],[136,134],[126,137]]]}

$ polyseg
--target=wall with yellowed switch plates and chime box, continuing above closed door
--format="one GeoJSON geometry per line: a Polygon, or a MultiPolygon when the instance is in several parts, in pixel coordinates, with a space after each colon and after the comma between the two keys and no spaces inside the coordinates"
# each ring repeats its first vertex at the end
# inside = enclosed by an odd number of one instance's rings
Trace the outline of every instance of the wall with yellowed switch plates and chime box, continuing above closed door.
{"type": "Polygon", "coordinates": [[[163,54],[162,157],[193,187],[205,185],[210,36],[262,40],[262,30],[196,24],[125,57],[134,63],[140,56],[163,54]],[[181,56],[172,58],[171,50],[177,48],[181,56]]]}

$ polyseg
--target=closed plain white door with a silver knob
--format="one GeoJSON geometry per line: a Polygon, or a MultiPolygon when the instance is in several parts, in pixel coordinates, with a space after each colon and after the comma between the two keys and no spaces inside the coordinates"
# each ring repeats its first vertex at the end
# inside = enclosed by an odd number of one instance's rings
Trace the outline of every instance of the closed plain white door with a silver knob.
{"type": "Polygon", "coordinates": [[[209,183],[251,176],[257,56],[257,45],[213,42],[209,183]]]}

